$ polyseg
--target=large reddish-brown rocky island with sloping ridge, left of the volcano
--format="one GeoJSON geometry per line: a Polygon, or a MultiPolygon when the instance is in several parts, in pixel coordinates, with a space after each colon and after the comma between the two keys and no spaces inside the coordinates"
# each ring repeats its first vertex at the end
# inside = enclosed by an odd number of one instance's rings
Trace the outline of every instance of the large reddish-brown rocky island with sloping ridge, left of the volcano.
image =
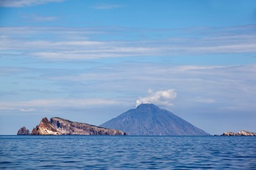
{"type": "Polygon", "coordinates": [[[50,121],[43,118],[37,125],[32,135],[124,135],[125,133],[115,129],[107,129],[79,122],[72,122],[63,118],[54,117],[50,121]]]}

